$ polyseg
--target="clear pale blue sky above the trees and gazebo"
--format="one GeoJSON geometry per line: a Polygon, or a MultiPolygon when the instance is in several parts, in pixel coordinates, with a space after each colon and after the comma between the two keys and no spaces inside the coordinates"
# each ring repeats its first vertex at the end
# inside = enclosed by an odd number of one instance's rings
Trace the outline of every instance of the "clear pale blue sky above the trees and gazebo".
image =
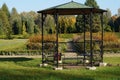
{"type": "MultiPolygon", "coordinates": [[[[0,7],[4,3],[9,8],[9,11],[13,7],[17,9],[19,13],[29,12],[29,11],[39,11],[56,5],[64,4],[70,2],[71,0],[0,0],[0,7]]],[[[78,3],[84,4],[86,0],[73,0],[78,3]]],[[[101,9],[110,9],[112,15],[118,14],[118,9],[120,8],[120,0],[96,0],[101,9]]]]}

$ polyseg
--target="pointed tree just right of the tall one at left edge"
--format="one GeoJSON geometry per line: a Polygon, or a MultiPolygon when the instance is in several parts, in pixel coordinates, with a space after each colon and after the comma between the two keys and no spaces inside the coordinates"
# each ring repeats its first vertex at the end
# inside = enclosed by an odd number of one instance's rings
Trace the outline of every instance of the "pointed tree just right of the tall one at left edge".
{"type": "Polygon", "coordinates": [[[10,16],[10,24],[12,26],[13,34],[22,34],[22,20],[16,8],[12,8],[10,16]]]}

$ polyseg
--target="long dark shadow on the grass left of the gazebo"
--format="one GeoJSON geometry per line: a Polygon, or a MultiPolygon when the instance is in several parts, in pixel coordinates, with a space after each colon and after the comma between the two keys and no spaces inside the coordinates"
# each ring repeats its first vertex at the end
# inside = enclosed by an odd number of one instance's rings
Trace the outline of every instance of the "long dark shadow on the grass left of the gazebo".
{"type": "Polygon", "coordinates": [[[13,61],[13,62],[21,62],[21,61],[29,61],[33,60],[32,58],[25,58],[25,57],[19,57],[19,58],[0,58],[0,61],[13,61]]]}

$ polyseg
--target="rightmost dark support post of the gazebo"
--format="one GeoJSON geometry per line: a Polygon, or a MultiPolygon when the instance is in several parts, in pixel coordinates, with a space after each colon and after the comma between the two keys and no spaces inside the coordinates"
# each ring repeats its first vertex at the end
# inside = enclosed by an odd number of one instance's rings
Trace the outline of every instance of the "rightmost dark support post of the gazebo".
{"type": "Polygon", "coordinates": [[[100,48],[101,48],[101,62],[103,62],[103,34],[104,34],[104,29],[103,29],[103,13],[101,13],[101,28],[102,28],[102,34],[101,34],[101,45],[100,45],[100,48]]]}

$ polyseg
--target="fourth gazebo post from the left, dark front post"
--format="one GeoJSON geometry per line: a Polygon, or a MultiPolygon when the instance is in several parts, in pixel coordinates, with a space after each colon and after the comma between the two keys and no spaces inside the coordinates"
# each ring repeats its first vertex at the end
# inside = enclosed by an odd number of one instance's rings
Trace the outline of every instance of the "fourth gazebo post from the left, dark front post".
{"type": "Polygon", "coordinates": [[[93,66],[93,41],[92,41],[92,16],[93,13],[90,13],[90,66],[93,66]]]}

